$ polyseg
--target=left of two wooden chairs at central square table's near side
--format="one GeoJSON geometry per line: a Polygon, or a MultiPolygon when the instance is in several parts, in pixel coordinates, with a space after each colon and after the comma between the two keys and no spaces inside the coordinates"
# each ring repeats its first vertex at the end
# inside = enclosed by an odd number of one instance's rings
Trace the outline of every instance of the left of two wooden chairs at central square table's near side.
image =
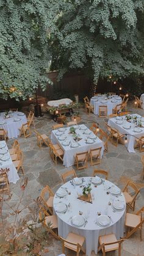
{"type": "Polygon", "coordinates": [[[76,164],[77,170],[87,168],[88,151],[82,153],[76,153],[74,164],[76,164]],[[79,164],[82,166],[79,167],[79,164]]]}

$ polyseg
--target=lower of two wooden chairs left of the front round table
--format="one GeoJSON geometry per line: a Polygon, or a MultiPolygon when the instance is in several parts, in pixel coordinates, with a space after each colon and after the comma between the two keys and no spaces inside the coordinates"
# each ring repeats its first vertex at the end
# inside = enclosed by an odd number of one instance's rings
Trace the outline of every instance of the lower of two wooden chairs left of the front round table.
{"type": "Polygon", "coordinates": [[[40,207],[39,221],[49,231],[49,233],[54,236],[54,238],[59,240],[59,236],[57,235],[58,224],[56,215],[49,215],[48,213],[43,211],[43,208],[40,207]]]}

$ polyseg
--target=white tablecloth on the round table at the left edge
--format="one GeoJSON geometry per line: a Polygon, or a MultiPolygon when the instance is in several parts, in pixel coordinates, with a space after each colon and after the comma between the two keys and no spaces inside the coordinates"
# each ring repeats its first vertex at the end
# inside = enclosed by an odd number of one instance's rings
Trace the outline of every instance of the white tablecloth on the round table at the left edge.
{"type": "Polygon", "coordinates": [[[9,118],[5,119],[5,113],[0,113],[0,128],[7,131],[7,135],[10,138],[15,138],[20,135],[21,126],[27,123],[26,115],[22,112],[13,112],[9,114],[9,118]]]}

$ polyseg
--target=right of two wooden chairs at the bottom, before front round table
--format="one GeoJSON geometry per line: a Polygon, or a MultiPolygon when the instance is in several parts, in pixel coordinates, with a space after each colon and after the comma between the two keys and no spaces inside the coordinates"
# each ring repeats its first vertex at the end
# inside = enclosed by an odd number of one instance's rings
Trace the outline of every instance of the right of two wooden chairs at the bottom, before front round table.
{"type": "Polygon", "coordinates": [[[112,252],[118,250],[118,256],[121,256],[121,243],[124,240],[117,240],[115,234],[99,236],[98,252],[102,250],[103,256],[106,256],[106,252],[112,252]]]}

